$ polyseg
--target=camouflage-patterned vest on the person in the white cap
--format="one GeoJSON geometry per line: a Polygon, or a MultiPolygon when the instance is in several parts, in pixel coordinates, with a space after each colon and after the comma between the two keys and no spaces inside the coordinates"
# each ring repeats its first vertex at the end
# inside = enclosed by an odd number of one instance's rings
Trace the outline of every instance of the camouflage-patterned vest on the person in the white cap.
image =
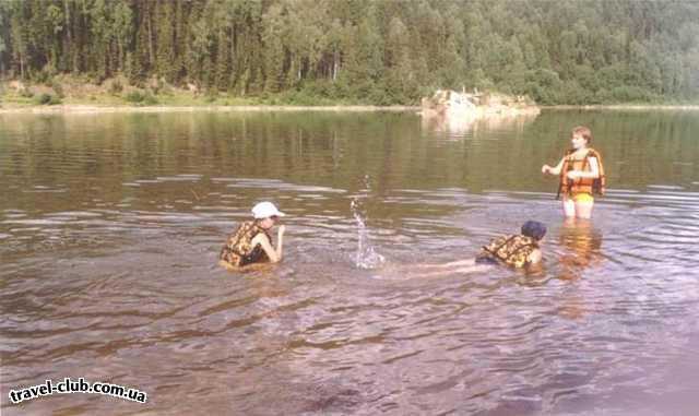
{"type": "Polygon", "coordinates": [[[258,234],[264,234],[272,242],[270,235],[253,221],[246,221],[228,236],[226,243],[221,249],[218,259],[232,265],[242,266],[250,263],[264,263],[269,261],[266,253],[260,245],[252,247],[252,239],[258,234]]]}

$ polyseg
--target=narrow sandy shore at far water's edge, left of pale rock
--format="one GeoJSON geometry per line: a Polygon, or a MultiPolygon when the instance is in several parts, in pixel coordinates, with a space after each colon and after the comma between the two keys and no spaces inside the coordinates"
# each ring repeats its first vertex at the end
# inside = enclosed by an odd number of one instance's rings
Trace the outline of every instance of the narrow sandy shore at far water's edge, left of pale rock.
{"type": "Polygon", "coordinates": [[[95,106],[67,104],[58,106],[8,106],[0,114],[98,114],[98,112],[194,112],[194,111],[416,111],[411,106],[95,106]]]}

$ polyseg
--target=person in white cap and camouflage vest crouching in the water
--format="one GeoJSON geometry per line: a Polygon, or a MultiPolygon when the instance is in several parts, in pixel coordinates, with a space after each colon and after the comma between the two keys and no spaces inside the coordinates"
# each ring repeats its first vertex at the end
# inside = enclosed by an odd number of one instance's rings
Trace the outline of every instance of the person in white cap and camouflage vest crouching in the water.
{"type": "Polygon", "coordinates": [[[269,230],[280,217],[285,216],[271,202],[260,202],[252,207],[253,221],[246,221],[228,236],[218,255],[220,264],[226,269],[239,269],[253,263],[276,263],[282,260],[282,247],[286,227],[281,225],[276,236],[276,248],[272,246],[269,230]]]}

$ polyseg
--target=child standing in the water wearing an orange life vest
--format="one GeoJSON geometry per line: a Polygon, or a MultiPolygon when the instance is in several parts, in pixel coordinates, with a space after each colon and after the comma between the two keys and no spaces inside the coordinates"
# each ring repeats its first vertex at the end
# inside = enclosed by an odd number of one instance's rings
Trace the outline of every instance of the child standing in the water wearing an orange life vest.
{"type": "Polygon", "coordinates": [[[590,218],[594,206],[593,193],[604,194],[606,178],[602,156],[589,147],[592,132],[587,127],[572,129],[572,148],[556,167],[542,166],[542,174],[559,177],[558,194],[562,194],[564,214],[567,217],[590,218]]]}

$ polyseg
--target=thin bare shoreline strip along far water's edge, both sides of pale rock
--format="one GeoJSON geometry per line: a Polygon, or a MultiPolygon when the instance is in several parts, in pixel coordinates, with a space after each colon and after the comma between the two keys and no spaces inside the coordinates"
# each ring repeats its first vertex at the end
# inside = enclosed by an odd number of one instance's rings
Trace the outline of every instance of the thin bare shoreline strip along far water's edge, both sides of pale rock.
{"type": "MultiPolygon", "coordinates": [[[[699,110],[699,105],[589,105],[589,106],[541,106],[542,110],[615,110],[615,111],[648,111],[648,110],[699,110]]],[[[111,112],[266,112],[266,111],[348,111],[348,112],[403,112],[420,111],[419,106],[288,106],[288,105],[240,105],[240,106],[119,106],[119,105],[87,105],[62,104],[56,106],[29,105],[0,107],[0,115],[5,114],[111,114],[111,112]]]]}

